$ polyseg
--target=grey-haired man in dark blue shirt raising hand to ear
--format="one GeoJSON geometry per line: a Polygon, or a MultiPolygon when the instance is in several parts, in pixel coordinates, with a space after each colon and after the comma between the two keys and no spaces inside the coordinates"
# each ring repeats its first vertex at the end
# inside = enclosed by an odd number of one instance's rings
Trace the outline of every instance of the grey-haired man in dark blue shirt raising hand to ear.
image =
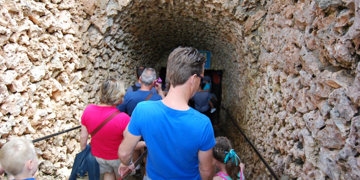
{"type": "Polygon", "coordinates": [[[132,111],[134,111],[138,103],[147,100],[157,101],[165,98],[161,85],[156,82],[156,72],[153,68],[144,69],[140,76],[140,82],[140,90],[127,92],[124,96],[123,103],[116,107],[120,112],[125,112],[131,116],[132,111]],[[154,85],[155,89],[158,91],[158,95],[150,92],[154,85]]]}

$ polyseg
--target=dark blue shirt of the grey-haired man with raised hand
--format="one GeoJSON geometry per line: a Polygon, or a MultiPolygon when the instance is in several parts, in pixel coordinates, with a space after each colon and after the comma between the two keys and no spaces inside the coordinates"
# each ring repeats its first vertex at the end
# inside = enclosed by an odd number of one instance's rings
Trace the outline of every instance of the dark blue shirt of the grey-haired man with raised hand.
{"type": "MultiPolygon", "coordinates": [[[[119,109],[120,112],[125,112],[129,116],[131,116],[132,111],[134,111],[136,105],[138,103],[144,101],[147,96],[150,94],[150,91],[130,91],[129,93],[126,93],[124,96],[124,100],[121,104],[117,105],[117,109],[119,109]]],[[[161,96],[157,94],[153,94],[150,101],[157,101],[161,100],[161,96]]]]}

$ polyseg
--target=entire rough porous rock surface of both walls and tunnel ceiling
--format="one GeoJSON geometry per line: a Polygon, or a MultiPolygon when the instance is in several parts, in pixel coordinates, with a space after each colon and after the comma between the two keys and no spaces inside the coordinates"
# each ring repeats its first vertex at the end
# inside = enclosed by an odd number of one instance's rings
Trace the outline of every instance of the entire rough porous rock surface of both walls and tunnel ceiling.
{"type": "MultiPolygon", "coordinates": [[[[101,82],[212,52],[222,104],[282,179],[360,178],[359,0],[0,0],[0,146],[80,125],[101,82]]],[[[248,179],[269,171],[224,111],[248,179]]],[[[66,179],[79,130],[35,143],[66,179]]]]}

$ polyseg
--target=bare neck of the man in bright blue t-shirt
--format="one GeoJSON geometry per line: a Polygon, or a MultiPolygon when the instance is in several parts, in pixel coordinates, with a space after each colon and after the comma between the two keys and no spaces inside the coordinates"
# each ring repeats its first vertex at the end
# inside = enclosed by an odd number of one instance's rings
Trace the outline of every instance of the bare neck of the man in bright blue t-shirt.
{"type": "Polygon", "coordinates": [[[189,109],[189,99],[193,96],[191,91],[187,83],[176,87],[171,85],[169,93],[161,102],[171,109],[186,111],[189,109]]]}

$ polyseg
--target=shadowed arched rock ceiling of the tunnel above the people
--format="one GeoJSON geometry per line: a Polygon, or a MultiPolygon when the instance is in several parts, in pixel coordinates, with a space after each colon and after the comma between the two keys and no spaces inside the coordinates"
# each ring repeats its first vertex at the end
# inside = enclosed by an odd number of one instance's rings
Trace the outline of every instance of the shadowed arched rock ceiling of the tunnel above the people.
{"type": "MultiPolygon", "coordinates": [[[[212,62],[234,59],[236,37],[241,34],[234,17],[222,15],[222,8],[215,10],[194,2],[185,4],[150,1],[130,2],[123,7],[124,13],[114,17],[114,24],[121,19],[116,26],[128,33],[124,41],[127,53],[139,60],[139,64],[152,66],[166,65],[168,54],[178,46],[211,51],[212,62]],[[213,13],[206,13],[211,10],[213,13]]],[[[113,31],[112,27],[109,30],[113,31]]]]}

